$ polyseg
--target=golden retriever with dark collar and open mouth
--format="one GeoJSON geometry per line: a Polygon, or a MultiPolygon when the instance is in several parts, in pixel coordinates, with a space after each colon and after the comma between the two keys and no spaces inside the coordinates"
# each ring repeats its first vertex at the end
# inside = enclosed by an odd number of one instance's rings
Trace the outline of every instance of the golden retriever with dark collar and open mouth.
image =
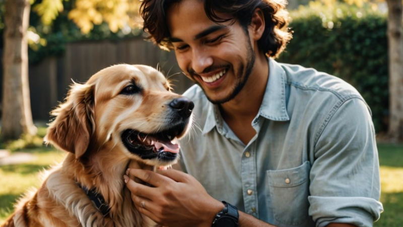
{"type": "Polygon", "coordinates": [[[144,65],[111,66],[73,84],[45,136],[70,153],[2,226],[155,226],[136,210],[123,175],[177,161],[193,103],[170,90],[144,65]]]}

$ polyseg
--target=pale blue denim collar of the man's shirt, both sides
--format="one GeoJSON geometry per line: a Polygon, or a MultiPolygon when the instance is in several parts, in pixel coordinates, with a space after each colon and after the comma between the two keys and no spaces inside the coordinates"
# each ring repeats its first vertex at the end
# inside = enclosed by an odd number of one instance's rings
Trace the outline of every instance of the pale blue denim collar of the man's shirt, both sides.
{"type": "MultiPolygon", "coordinates": [[[[273,59],[269,59],[268,64],[270,71],[268,82],[258,115],[254,122],[256,122],[259,116],[272,121],[289,121],[290,117],[286,109],[286,72],[279,63],[273,59]]],[[[217,126],[217,130],[220,134],[225,133],[218,105],[209,102],[203,134],[210,132],[215,126],[217,126]]]]}

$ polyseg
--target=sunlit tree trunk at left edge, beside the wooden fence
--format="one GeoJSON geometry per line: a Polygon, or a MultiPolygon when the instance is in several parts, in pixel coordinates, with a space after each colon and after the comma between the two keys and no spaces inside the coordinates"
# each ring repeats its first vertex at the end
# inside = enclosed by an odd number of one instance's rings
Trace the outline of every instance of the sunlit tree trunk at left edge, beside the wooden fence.
{"type": "Polygon", "coordinates": [[[35,134],[28,82],[29,0],[6,0],[3,55],[2,137],[35,134]]]}

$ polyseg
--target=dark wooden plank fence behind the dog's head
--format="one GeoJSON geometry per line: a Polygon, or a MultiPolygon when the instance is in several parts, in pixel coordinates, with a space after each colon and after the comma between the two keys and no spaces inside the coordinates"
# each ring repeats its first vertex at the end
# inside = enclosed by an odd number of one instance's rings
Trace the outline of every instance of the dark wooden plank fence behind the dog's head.
{"type": "Polygon", "coordinates": [[[173,51],[161,50],[141,38],[118,42],[69,43],[63,56],[46,58],[37,65],[29,66],[33,119],[48,121],[49,111],[58,101],[63,100],[72,80],[84,83],[99,70],[119,63],[144,64],[152,67],[159,65],[161,71],[174,83],[177,93],[182,93],[192,85],[190,80],[179,73],[173,51]]]}

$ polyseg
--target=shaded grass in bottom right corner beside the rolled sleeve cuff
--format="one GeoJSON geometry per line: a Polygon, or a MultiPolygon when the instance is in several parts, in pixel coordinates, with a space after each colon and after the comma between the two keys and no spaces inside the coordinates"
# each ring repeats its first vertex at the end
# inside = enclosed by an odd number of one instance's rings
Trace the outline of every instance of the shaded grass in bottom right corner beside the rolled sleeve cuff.
{"type": "Polygon", "coordinates": [[[380,219],[374,223],[375,227],[394,227],[402,226],[403,216],[403,192],[399,193],[382,193],[381,202],[383,204],[383,213],[380,219]]]}

